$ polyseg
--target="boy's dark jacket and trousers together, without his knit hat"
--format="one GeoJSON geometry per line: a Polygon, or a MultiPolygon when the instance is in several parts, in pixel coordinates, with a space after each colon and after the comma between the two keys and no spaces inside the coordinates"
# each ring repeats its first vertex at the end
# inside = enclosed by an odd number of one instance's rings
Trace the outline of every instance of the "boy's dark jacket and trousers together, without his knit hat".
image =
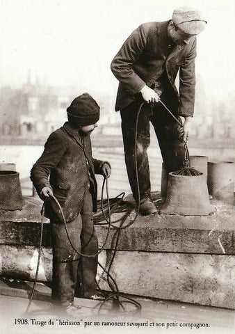
{"type": "MultiPolygon", "coordinates": [[[[63,208],[67,227],[74,246],[82,251],[97,253],[97,239],[93,233],[92,211],[97,209],[97,183],[95,173],[102,174],[106,161],[92,157],[90,136],[81,136],[68,122],[53,132],[44,145],[42,156],[31,170],[31,180],[40,195],[44,186],[53,189],[54,196],[63,208]],[[49,180],[48,180],[49,177],[49,180]],[[88,189],[90,191],[88,191],[88,189]],[[81,230],[82,228],[82,230],[81,230]],[[90,239],[91,238],[91,239],[90,239]]],[[[108,162],[107,162],[108,164],[108,162]]],[[[53,300],[74,298],[79,256],[72,250],[60,210],[54,200],[45,202],[47,217],[52,225],[53,253],[53,300]]],[[[90,294],[95,286],[97,260],[81,260],[83,289],[90,294]],[[84,268],[88,266],[87,268],[84,268]],[[87,277],[84,277],[87,275],[87,277]]],[[[85,292],[84,292],[85,293],[85,292]]]]}

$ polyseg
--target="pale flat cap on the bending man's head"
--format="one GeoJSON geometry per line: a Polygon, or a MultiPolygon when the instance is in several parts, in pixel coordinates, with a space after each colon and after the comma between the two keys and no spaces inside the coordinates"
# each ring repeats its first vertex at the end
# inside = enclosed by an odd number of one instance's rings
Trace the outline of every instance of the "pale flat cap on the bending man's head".
{"type": "Polygon", "coordinates": [[[184,33],[198,35],[206,26],[206,21],[200,11],[184,6],[173,11],[172,22],[184,33]]]}

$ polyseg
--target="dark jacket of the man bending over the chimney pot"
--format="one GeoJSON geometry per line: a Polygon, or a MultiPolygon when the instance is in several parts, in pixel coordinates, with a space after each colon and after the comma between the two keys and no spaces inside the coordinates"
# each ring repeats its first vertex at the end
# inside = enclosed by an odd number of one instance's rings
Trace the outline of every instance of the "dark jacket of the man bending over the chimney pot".
{"type": "Polygon", "coordinates": [[[189,38],[175,45],[168,53],[168,24],[141,24],[122,45],[111,63],[111,70],[120,81],[115,110],[122,110],[136,98],[136,93],[147,84],[152,86],[166,71],[172,85],[172,100],[180,116],[193,116],[195,102],[195,56],[197,40],[189,38]],[[179,94],[175,79],[179,71],[179,94]]]}

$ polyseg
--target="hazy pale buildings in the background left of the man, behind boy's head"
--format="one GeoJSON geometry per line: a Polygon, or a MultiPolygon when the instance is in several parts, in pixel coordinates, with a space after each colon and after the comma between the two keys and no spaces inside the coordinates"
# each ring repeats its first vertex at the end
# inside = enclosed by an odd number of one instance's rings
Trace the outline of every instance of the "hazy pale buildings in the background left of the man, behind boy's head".
{"type": "MultiPolygon", "coordinates": [[[[32,83],[31,72],[22,88],[3,87],[0,90],[0,132],[3,137],[44,139],[67,120],[66,109],[74,97],[82,94],[70,86],[49,86],[38,79],[32,83]]],[[[90,92],[88,92],[90,93],[90,92]]],[[[114,101],[105,94],[96,93],[101,107],[102,124],[115,124],[114,101]]],[[[94,97],[94,95],[92,94],[94,97]]]]}

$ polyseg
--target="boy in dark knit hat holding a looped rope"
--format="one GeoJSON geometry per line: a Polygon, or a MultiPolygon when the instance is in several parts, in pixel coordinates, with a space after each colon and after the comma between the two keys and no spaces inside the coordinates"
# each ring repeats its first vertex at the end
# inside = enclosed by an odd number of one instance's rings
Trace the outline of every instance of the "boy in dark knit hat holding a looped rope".
{"type": "Polygon", "coordinates": [[[45,215],[51,221],[53,270],[51,301],[62,308],[74,308],[74,290],[95,299],[98,242],[92,212],[97,210],[95,173],[111,175],[106,161],[92,158],[90,133],[97,127],[99,106],[88,94],[76,97],[67,108],[68,122],[47,139],[42,156],[31,170],[38,195],[45,200],[45,215]],[[48,180],[49,177],[49,180],[48,180]],[[72,245],[65,232],[55,196],[65,216],[72,245]]]}

